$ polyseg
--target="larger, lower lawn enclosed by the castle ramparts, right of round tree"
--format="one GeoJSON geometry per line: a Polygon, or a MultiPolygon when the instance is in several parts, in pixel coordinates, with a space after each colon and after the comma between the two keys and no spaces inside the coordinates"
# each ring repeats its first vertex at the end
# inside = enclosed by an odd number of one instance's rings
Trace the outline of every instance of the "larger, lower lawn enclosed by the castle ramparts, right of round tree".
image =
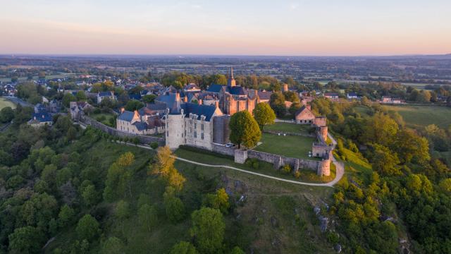
{"type": "Polygon", "coordinates": [[[311,137],[262,133],[260,141],[261,145],[257,145],[254,150],[283,155],[285,157],[313,159],[309,158],[309,151],[311,151],[311,145],[316,139],[311,137]]]}

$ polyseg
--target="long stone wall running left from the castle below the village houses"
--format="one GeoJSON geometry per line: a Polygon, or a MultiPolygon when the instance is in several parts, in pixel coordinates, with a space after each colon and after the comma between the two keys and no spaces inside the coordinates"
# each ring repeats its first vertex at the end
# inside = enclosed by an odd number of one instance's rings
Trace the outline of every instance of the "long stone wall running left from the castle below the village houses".
{"type": "Polygon", "coordinates": [[[85,123],[86,125],[90,125],[94,128],[97,128],[97,129],[103,131],[104,133],[109,133],[109,135],[115,135],[115,136],[118,136],[121,138],[125,138],[125,137],[138,138],[138,140],[140,140],[140,143],[142,143],[142,144],[148,145],[149,143],[156,142],[160,146],[165,145],[164,138],[152,137],[152,136],[147,136],[147,135],[136,135],[136,134],[132,134],[132,133],[127,133],[125,131],[116,130],[116,128],[106,126],[103,123],[99,123],[98,121],[96,121],[90,117],[87,117],[87,116],[82,116],[80,118],[80,122],[85,123]]]}

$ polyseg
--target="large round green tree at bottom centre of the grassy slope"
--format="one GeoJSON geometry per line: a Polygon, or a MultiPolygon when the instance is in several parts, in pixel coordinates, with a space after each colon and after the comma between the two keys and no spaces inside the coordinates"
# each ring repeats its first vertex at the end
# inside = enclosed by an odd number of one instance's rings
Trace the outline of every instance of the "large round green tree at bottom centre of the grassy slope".
{"type": "Polygon", "coordinates": [[[191,215],[190,235],[201,253],[218,253],[223,248],[226,224],[217,209],[202,207],[191,215]]]}

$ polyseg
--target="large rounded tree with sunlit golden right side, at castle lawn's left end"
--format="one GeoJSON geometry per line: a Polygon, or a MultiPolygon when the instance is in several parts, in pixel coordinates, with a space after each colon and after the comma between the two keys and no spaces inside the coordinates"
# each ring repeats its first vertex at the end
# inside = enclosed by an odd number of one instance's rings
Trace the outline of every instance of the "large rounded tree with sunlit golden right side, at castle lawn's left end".
{"type": "Polygon", "coordinates": [[[248,111],[240,111],[230,118],[230,141],[240,147],[254,147],[261,138],[259,124],[248,111]]]}

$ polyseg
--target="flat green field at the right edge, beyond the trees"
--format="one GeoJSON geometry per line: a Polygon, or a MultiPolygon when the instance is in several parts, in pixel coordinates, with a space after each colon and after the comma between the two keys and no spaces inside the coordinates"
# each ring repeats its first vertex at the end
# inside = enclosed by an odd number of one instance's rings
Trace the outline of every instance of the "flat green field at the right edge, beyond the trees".
{"type": "Polygon", "coordinates": [[[388,110],[397,111],[407,126],[422,128],[429,124],[435,124],[440,128],[448,128],[451,125],[451,108],[438,106],[384,106],[388,110]]]}

